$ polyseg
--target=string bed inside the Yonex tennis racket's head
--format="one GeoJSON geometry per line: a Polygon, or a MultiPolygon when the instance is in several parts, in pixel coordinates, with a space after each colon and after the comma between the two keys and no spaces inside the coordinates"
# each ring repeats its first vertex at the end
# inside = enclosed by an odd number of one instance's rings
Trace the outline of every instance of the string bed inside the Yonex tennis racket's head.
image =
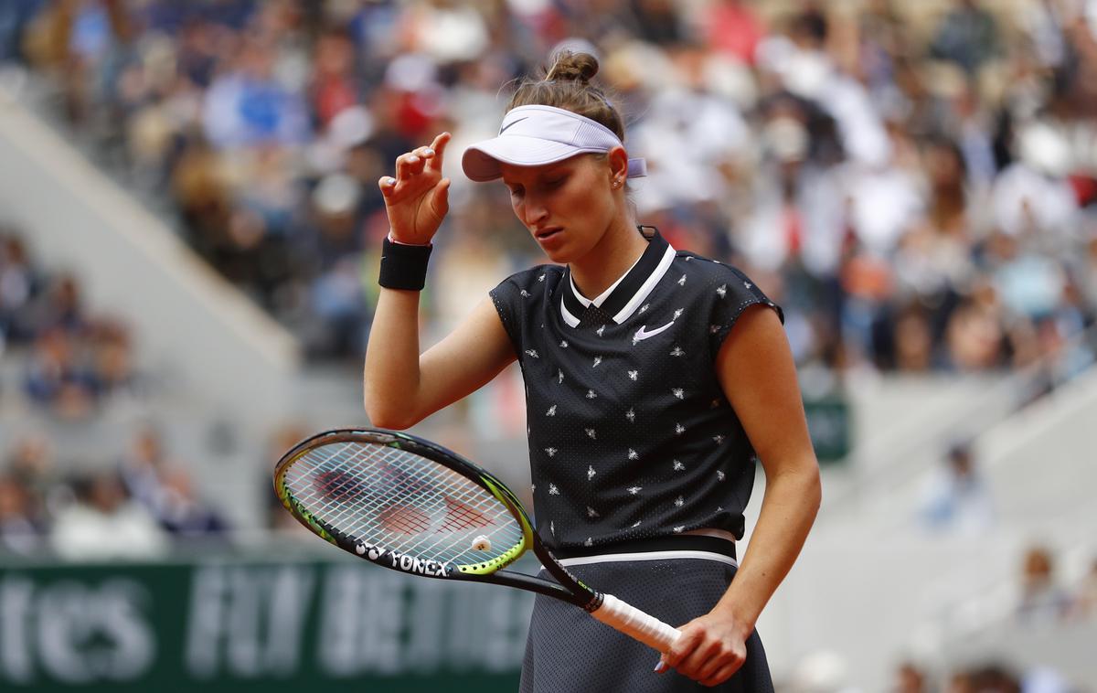
{"type": "Polygon", "coordinates": [[[285,482],[297,503],[339,532],[420,558],[479,564],[522,537],[507,507],[472,479],[382,444],[317,447],[291,465],[285,482]],[[483,537],[493,548],[474,549],[483,537]]]}

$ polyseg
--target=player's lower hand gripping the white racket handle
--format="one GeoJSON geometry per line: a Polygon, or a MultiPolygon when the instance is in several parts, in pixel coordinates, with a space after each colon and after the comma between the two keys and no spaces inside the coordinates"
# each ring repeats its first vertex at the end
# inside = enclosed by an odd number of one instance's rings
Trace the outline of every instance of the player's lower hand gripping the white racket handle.
{"type": "Polygon", "coordinates": [[[656,671],[674,668],[701,685],[720,685],[732,678],[747,658],[750,630],[734,617],[708,613],[679,628],[669,652],[659,659],[656,671]]]}

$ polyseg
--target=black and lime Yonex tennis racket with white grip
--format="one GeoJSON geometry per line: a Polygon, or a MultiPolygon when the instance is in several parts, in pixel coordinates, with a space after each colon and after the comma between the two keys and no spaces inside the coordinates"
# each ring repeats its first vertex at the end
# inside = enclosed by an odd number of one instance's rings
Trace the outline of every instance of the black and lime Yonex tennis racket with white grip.
{"type": "Polygon", "coordinates": [[[282,456],[274,489],[306,527],[378,566],[570,602],[660,652],[681,635],[584,584],[541,543],[506,485],[430,441],[378,429],[319,433],[282,456]],[[531,548],[555,581],[502,569],[531,548]]]}

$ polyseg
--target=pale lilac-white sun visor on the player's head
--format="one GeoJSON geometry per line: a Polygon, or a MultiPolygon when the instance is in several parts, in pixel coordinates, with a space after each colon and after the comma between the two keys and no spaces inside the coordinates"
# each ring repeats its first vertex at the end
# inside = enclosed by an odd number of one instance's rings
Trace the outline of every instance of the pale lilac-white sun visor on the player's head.
{"type": "MultiPolygon", "coordinates": [[[[499,135],[476,143],[461,157],[465,175],[477,182],[502,177],[500,163],[543,166],[579,154],[623,147],[613,130],[578,113],[554,106],[518,106],[502,118],[499,135]]],[[[643,159],[629,159],[629,178],[647,175],[643,159]]]]}

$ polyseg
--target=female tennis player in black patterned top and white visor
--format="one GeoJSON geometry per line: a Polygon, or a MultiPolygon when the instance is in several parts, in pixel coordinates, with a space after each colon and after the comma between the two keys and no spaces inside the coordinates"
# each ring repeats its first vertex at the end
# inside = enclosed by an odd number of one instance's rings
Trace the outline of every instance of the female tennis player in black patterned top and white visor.
{"type": "Polygon", "coordinates": [[[625,182],[644,162],[626,155],[620,113],[590,83],[597,71],[590,55],[558,55],[518,87],[498,136],[464,152],[470,179],[502,180],[553,264],[505,280],[422,354],[419,289],[448,212],[450,135],[381,179],[391,232],[366,412],[410,427],[517,359],[538,532],[580,579],[683,633],[656,661],[539,597],[523,692],[771,691],[755,623],[821,498],[781,311],[738,270],[637,227],[625,182]],[[766,493],[737,565],[758,462],[766,493]],[[659,675],[668,669],[680,675],[659,675]]]}

